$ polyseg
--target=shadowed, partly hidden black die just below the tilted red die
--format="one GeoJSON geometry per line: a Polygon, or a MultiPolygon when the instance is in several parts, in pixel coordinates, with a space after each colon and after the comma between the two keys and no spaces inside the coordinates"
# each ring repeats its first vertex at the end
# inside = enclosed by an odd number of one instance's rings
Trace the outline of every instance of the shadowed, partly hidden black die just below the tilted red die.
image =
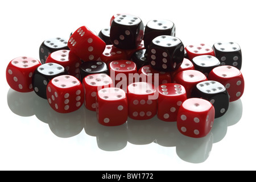
{"type": "Polygon", "coordinates": [[[84,77],[96,73],[106,73],[108,75],[109,69],[106,63],[103,61],[85,61],[80,67],[80,81],[82,81],[84,77]]]}

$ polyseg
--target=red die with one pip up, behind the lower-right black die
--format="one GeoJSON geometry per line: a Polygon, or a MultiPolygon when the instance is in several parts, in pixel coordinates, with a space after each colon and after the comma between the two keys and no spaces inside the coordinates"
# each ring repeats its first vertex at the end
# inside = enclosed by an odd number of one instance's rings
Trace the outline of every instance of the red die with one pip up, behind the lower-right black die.
{"type": "Polygon", "coordinates": [[[185,87],[187,98],[191,97],[191,89],[199,82],[207,81],[207,77],[197,70],[185,70],[177,73],[174,77],[174,82],[185,87]]]}

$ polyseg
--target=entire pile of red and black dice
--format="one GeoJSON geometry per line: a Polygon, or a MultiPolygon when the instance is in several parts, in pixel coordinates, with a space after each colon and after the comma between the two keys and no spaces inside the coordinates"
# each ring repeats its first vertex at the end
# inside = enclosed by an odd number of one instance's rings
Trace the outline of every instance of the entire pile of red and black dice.
{"type": "MultiPolygon", "coordinates": [[[[82,26],[69,40],[45,40],[40,61],[17,57],[6,69],[10,87],[34,91],[52,109],[70,113],[84,105],[98,122],[122,125],[155,115],[200,138],[244,89],[241,48],[234,42],[184,46],[170,20],[116,14],[97,35],[82,26]]],[[[93,121],[92,121],[93,122],[93,121]]]]}

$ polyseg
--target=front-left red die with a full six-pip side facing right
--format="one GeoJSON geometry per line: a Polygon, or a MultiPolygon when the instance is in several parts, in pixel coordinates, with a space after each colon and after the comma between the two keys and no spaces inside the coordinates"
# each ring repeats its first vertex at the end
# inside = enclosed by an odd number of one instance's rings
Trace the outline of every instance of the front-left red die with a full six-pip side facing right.
{"type": "Polygon", "coordinates": [[[53,78],[47,85],[46,96],[49,105],[58,113],[71,113],[84,103],[82,84],[71,75],[53,78]]]}

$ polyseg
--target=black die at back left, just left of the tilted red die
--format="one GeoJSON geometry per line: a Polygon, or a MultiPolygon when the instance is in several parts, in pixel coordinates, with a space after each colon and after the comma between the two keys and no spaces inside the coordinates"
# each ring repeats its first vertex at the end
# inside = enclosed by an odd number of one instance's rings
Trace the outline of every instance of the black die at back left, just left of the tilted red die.
{"type": "Polygon", "coordinates": [[[65,38],[49,38],[44,40],[39,48],[39,57],[42,64],[46,63],[47,57],[55,51],[61,49],[69,50],[68,40],[65,38]]]}

